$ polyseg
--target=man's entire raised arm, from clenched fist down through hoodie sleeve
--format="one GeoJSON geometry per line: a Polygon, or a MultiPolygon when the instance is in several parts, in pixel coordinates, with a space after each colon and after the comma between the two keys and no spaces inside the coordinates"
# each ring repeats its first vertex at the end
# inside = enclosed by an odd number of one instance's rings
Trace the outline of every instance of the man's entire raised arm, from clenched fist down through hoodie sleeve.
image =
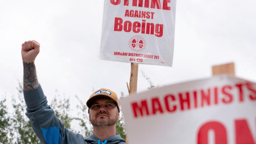
{"type": "Polygon", "coordinates": [[[26,116],[30,119],[35,134],[43,144],[84,144],[83,136],[65,128],[47,104],[47,98],[37,80],[34,64],[39,49],[40,44],[37,41],[26,41],[22,44],[23,95],[27,105],[26,116]]]}

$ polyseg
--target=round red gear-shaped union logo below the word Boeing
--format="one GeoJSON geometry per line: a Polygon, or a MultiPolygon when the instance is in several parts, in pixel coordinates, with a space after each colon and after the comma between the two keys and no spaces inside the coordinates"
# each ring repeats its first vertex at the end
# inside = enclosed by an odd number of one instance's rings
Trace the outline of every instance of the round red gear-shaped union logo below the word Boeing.
{"type": "Polygon", "coordinates": [[[134,52],[140,52],[146,47],[146,41],[141,36],[133,36],[129,41],[129,47],[134,52]]]}

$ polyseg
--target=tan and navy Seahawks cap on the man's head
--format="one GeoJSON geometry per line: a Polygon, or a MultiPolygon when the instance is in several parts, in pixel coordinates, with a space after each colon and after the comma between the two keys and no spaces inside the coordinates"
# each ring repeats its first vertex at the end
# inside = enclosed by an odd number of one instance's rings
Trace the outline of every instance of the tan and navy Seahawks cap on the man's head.
{"type": "Polygon", "coordinates": [[[119,101],[116,93],[114,91],[111,91],[110,89],[101,88],[93,92],[89,100],[86,102],[86,105],[88,107],[88,113],[89,113],[90,107],[92,106],[92,103],[99,98],[107,98],[107,99],[113,100],[114,104],[116,104],[117,106],[118,112],[120,112],[119,101]]]}

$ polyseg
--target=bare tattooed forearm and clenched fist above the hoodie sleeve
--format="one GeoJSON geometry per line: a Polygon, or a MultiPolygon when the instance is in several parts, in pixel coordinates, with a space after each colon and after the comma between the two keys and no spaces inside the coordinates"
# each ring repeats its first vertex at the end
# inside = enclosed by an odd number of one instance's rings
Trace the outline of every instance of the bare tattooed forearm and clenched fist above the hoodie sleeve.
{"type": "Polygon", "coordinates": [[[39,82],[36,76],[35,58],[40,51],[37,41],[25,41],[22,44],[21,56],[23,60],[23,90],[29,91],[38,88],[39,82]]]}

